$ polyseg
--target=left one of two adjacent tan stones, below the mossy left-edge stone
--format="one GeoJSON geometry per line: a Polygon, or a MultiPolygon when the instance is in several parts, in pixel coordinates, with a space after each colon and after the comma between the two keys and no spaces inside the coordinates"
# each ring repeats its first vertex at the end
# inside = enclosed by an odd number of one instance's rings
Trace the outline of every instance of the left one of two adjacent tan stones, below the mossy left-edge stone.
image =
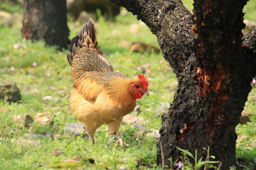
{"type": "Polygon", "coordinates": [[[18,126],[25,126],[29,127],[34,122],[30,114],[20,114],[20,115],[13,115],[11,117],[11,121],[13,121],[18,126]]]}

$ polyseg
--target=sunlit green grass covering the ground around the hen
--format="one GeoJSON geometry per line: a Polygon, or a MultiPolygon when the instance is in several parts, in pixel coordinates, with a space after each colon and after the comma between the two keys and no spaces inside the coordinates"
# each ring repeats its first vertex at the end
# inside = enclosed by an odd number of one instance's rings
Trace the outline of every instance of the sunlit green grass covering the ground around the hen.
{"type": "MultiPolygon", "coordinates": [[[[253,3],[251,1],[249,3],[253,3]]],[[[11,8],[6,3],[1,5],[0,7],[4,7],[9,12],[20,12],[21,7],[11,8]]],[[[254,12],[251,8],[247,9],[248,14],[254,12]]],[[[254,17],[253,20],[256,18],[254,17]]],[[[70,32],[70,38],[82,27],[75,27],[72,22],[68,22],[68,25],[74,28],[70,32]]],[[[155,111],[161,105],[160,102],[173,101],[177,85],[176,77],[161,54],[130,52],[127,45],[127,42],[139,41],[158,46],[155,35],[130,13],[116,17],[115,22],[100,18],[96,26],[99,33],[98,42],[114,69],[120,70],[130,78],[144,72],[149,77],[150,95],[138,100],[141,103],[141,113],[138,116],[147,120],[144,126],[159,129],[161,119],[156,117],[155,111]]],[[[161,169],[156,165],[155,138],[145,134],[137,136],[137,128],[128,124],[122,125],[119,132],[128,137],[131,147],[115,148],[114,144],[107,144],[109,136],[106,125],[101,126],[95,134],[98,140],[94,147],[89,140],[81,136],[66,135],[66,124],[77,123],[77,119],[69,109],[68,98],[73,83],[66,53],[67,50],[58,51],[55,46],[49,47],[43,41],[34,43],[25,41],[18,28],[0,26],[0,81],[14,80],[22,95],[22,100],[18,103],[0,102],[0,107],[4,108],[0,111],[0,169],[107,168],[114,170],[121,166],[125,166],[126,169],[161,169]],[[18,48],[14,48],[14,45],[18,48]],[[33,67],[33,62],[37,63],[37,67],[33,67]],[[10,70],[12,66],[14,71],[10,70]],[[57,97],[61,102],[55,100],[46,102],[43,100],[46,95],[57,97]],[[37,112],[45,111],[55,115],[53,123],[58,125],[58,129],[54,129],[49,124],[41,126],[34,123],[30,132],[27,128],[16,127],[11,121],[12,115],[30,113],[33,117],[37,112]],[[25,133],[38,134],[46,131],[61,136],[30,137],[31,140],[40,141],[39,145],[18,142],[20,137],[25,138],[25,133]],[[64,154],[58,157],[49,154],[56,148],[62,149],[64,154]],[[70,161],[71,159],[80,162],[70,161]],[[90,159],[95,163],[90,163],[90,159]]],[[[256,87],[253,87],[245,106],[245,109],[252,113],[251,123],[239,124],[237,127],[238,136],[248,138],[237,143],[239,164],[248,170],[255,168],[254,151],[251,148],[252,141],[256,139],[255,95],[256,87]]]]}

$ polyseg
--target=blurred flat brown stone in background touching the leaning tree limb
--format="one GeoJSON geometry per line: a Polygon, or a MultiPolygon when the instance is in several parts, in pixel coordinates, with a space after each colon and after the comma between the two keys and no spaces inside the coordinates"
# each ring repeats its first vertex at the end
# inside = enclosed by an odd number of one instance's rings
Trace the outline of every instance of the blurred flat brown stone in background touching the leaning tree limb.
{"type": "Polygon", "coordinates": [[[156,54],[160,52],[160,49],[158,47],[155,47],[153,45],[149,45],[143,42],[132,42],[130,46],[130,51],[132,52],[147,52],[150,54],[152,51],[154,51],[156,54]]]}

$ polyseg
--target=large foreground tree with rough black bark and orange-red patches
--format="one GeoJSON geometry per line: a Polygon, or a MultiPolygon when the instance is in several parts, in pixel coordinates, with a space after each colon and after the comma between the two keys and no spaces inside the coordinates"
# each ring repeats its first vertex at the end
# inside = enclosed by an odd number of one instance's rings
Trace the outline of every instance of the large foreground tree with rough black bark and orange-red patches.
{"type": "Polygon", "coordinates": [[[241,40],[247,0],[196,0],[193,15],[181,0],[110,1],[146,23],[178,78],[162,116],[158,164],[179,159],[175,146],[204,159],[210,146],[221,169],[236,165],[235,128],[256,72],[256,29],[241,40]]]}

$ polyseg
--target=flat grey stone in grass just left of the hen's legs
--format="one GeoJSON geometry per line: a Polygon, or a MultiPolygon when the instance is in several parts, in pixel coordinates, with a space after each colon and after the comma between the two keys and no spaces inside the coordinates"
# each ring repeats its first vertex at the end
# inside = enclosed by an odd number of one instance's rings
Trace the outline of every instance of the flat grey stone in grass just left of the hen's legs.
{"type": "Polygon", "coordinates": [[[69,136],[81,136],[80,132],[81,130],[84,130],[84,135],[82,135],[83,138],[89,138],[88,133],[85,130],[85,126],[83,124],[74,124],[69,123],[67,124],[66,132],[69,136]]]}

